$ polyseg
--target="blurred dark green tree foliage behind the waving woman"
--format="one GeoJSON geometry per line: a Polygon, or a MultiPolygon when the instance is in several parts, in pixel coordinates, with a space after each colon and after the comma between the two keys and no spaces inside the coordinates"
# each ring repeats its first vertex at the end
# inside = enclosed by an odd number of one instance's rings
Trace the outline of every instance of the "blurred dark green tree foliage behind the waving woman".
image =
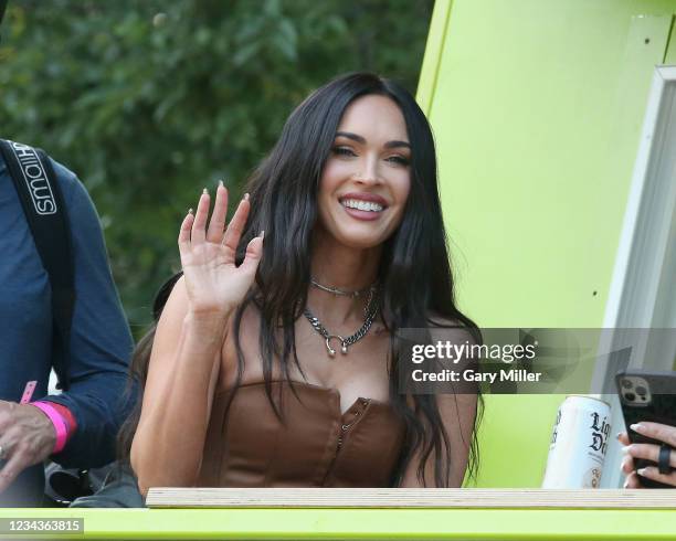
{"type": "Polygon", "coordinates": [[[415,92],[432,3],[10,0],[0,135],[84,181],[138,335],[201,189],[240,197],[293,108],[340,73],[415,92]]]}

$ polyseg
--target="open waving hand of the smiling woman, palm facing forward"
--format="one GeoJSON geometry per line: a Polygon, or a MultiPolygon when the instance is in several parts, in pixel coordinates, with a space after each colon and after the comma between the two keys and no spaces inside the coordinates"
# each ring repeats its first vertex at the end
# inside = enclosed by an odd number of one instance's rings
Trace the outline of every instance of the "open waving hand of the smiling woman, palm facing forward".
{"type": "Polygon", "coordinates": [[[228,190],[222,182],[207,229],[209,201],[204,189],[197,213],[189,212],[181,224],[179,251],[191,312],[225,316],[242,303],[254,282],[263,255],[263,232],[250,241],[244,262],[237,267],[235,252],[249,216],[249,194],[240,201],[225,233],[228,190]]]}

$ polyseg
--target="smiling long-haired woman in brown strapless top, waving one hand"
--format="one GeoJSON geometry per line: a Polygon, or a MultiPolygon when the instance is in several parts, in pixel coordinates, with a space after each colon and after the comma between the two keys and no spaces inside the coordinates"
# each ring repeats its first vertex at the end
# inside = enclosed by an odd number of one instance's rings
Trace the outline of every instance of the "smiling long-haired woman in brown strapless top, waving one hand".
{"type": "Polygon", "coordinates": [[[474,474],[476,390],[399,393],[400,330],[478,340],[454,305],[413,97],[368,73],[331,81],[293,112],[228,227],[226,205],[221,184],[209,220],[204,190],[180,229],[183,276],[130,450],[141,492],[457,487],[468,463],[474,474]]]}

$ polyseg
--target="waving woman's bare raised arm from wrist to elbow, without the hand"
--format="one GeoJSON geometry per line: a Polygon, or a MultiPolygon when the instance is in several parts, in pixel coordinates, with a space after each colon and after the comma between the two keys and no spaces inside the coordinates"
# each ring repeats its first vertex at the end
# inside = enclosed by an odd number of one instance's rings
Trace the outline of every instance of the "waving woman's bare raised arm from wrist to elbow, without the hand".
{"type": "Polygon", "coordinates": [[[191,314],[184,279],[173,286],[155,332],[131,445],[144,496],[150,487],[191,486],[197,479],[229,316],[191,314]]]}

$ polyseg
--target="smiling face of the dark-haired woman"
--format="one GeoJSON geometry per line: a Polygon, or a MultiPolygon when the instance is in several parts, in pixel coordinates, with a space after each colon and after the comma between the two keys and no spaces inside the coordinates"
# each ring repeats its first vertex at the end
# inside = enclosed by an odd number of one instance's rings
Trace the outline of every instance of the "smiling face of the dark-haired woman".
{"type": "Polygon", "coordinates": [[[411,147],[399,106],[368,95],[345,110],[319,184],[319,225],[339,244],[370,248],[401,223],[411,147]]]}

